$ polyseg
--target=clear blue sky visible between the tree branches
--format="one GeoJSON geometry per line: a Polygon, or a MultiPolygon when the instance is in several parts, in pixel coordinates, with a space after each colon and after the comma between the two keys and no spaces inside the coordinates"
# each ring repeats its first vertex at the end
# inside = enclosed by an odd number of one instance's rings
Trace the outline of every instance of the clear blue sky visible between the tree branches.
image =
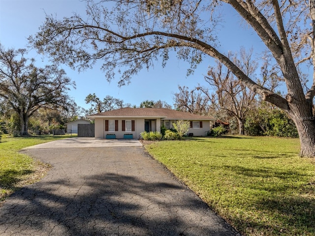
{"type": "MultiPolygon", "coordinates": [[[[262,47],[262,43],[252,31],[248,30],[233,9],[227,9],[229,18],[225,19],[228,27],[219,30],[222,52],[239,50],[240,46],[247,48],[262,47]]],[[[5,48],[26,48],[27,37],[34,35],[45,20],[45,14],[56,14],[58,19],[71,16],[73,12],[85,15],[85,2],[80,0],[0,0],[0,42],[5,48]]],[[[28,58],[34,58],[37,66],[48,64],[47,59],[30,51],[28,58]],[[46,62],[44,62],[46,61],[46,62]]],[[[68,77],[76,83],[76,89],[68,94],[75,102],[84,108],[89,108],[84,101],[89,93],[95,93],[100,99],[106,95],[123,99],[125,103],[139,106],[144,100],[162,100],[173,105],[173,93],[178,92],[178,86],[192,89],[198,84],[206,86],[204,76],[214,60],[207,57],[198,66],[193,75],[186,76],[189,65],[172,57],[166,67],[162,68],[161,60],[155,63],[149,71],[144,69],[131,80],[131,84],[119,88],[117,79],[108,83],[99,67],[78,73],[62,65],[68,77]]]]}

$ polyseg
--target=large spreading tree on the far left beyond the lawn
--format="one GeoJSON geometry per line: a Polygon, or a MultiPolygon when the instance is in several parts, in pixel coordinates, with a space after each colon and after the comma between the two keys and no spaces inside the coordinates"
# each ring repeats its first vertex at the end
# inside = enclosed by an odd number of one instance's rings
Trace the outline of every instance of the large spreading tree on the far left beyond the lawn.
{"type": "Polygon", "coordinates": [[[29,118],[39,108],[67,109],[71,102],[67,90],[75,86],[64,70],[56,65],[36,67],[25,53],[0,44],[0,97],[20,117],[22,135],[28,134],[29,118]]]}

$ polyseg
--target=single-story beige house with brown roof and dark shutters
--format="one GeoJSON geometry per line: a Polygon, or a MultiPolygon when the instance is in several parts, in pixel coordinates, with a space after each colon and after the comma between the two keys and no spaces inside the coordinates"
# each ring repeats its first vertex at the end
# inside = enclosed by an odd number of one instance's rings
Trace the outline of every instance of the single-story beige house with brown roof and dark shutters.
{"type": "Polygon", "coordinates": [[[199,116],[165,108],[121,108],[88,116],[95,120],[95,138],[123,139],[140,137],[143,131],[158,131],[164,125],[172,128],[176,120],[189,120],[188,133],[194,136],[205,136],[210,130],[213,117],[199,116]]]}

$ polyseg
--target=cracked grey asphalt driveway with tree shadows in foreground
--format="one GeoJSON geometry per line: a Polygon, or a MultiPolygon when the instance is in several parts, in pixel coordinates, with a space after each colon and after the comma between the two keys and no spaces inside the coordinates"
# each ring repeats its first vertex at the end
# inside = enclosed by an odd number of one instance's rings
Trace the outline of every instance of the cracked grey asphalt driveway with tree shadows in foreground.
{"type": "Polygon", "coordinates": [[[0,207],[1,236],[238,235],[141,146],[41,147],[22,152],[52,169],[0,207]]]}

